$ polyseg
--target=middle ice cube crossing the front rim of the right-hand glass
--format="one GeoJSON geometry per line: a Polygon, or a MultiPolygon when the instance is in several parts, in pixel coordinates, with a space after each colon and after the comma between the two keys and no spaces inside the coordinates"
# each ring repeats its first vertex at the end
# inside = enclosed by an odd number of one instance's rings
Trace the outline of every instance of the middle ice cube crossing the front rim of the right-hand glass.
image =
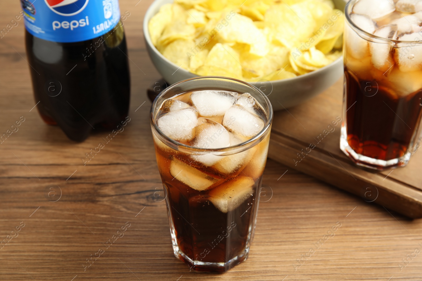
{"type": "MultiPolygon", "coordinates": [[[[397,25],[385,25],[384,27],[377,29],[373,34],[383,38],[396,39],[397,25]]],[[[376,69],[382,72],[386,72],[394,64],[391,52],[392,47],[393,46],[388,42],[369,43],[369,48],[371,50],[371,61],[376,69]]]]}

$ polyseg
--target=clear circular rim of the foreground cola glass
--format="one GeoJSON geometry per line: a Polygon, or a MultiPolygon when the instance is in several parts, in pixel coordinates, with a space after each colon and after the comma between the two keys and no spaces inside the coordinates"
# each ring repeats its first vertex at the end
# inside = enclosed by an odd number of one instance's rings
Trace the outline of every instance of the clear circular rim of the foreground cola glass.
{"type": "MultiPolygon", "coordinates": [[[[262,107],[262,105],[261,105],[261,107],[262,107]]],[[[235,150],[235,149],[238,149],[238,148],[243,148],[243,147],[249,146],[252,143],[257,142],[258,139],[260,139],[262,136],[264,136],[268,132],[268,130],[271,128],[271,123],[273,121],[273,107],[272,107],[271,102],[268,99],[268,97],[265,96],[265,94],[259,88],[255,87],[255,86],[253,86],[253,85],[251,85],[251,84],[249,84],[249,83],[247,83],[245,81],[238,80],[238,79],[235,79],[235,78],[223,77],[223,76],[199,76],[199,77],[194,77],[194,78],[189,78],[189,79],[185,79],[185,80],[179,81],[179,82],[174,83],[173,85],[165,88],[154,99],[154,102],[152,103],[151,109],[150,109],[150,112],[149,112],[149,119],[150,119],[151,126],[154,128],[155,131],[157,131],[159,137],[161,136],[162,139],[164,139],[166,142],[170,142],[171,144],[173,144],[173,145],[175,145],[177,147],[181,147],[184,150],[188,150],[188,151],[192,151],[192,152],[200,152],[201,154],[203,154],[203,153],[212,153],[212,152],[222,152],[222,153],[224,153],[224,152],[228,152],[230,150],[235,150]],[[154,108],[156,107],[156,105],[157,105],[158,101],[160,100],[160,98],[163,95],[165,95],[168,91],[170,91],[172,88],[175,88],[176,86],[179,86],[181,83],[184,83],[184,82],[187,82],[187,81],[191,81],[191,80],[202,80],[202,79],[212,79],[212,78],[232,80],[232,81],[235,81],[235,82],[238,82],[238,83],[242,83],[242,84],[244,84],[244,85],[246,85],[246,86],[248,86],[250,88],[253,88],[258,93],[260,93],[262,95],[262,97],[264,98],[265,102],[267,102],[267,104],[268,104],[268,111],[269,111],[268,119],[265,122],[264,128],[262,128],[262,130],[257,135],[253,136],[252,138],[250,138],[250,139],[248,139],[248,140],[246,140],[244,142],[239,143],[238,145],[233,145],[233,146],[229,146],[229,147],[222,147],[222,148],[201,148],[201,147],[193,147],[193,146],[190,146],[190,145],[185,145],[183,143],[180,143],[180,142],[178,142],[178,141],[176,141],[174,139],[171,139],[170,137],[166,136],[165,134],[163,134],[163,132],[160,130],[160,128],[158,128],[158,126],[157,126],[157,124],[156,124],[156,122],[154,120],[154,113],[155,113],[154,112],[154,108]]]]}

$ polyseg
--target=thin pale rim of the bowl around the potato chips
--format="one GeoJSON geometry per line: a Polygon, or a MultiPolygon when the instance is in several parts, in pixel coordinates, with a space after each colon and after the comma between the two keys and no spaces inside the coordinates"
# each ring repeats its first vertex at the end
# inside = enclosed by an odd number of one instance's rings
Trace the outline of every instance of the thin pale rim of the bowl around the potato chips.
{"type": "MultiPolygon", "coordinates": [[[[169,63],[170,65],[172,65],[173,67],[176,67],[177,69],[180,68],[180,70],[186,72],[186,74],[190,74],[190,75],[195,75],[195,77],[203,77],[200,75],[197,75],[195,73],[192,73],[188,70],[185,70],[184,68],[181,68],[180,66],[178,66],[177,64],[171,62],[169,59],[167,59],[163,54],[160,53],[160,51],[158,51],[158,49],[154,46],[154,44],[152,44],[151,41],[151,36],[149,35],[149,21],[151,20],[151,18],[155,15],[151,15],[148,19],[147,16],[149,16],[152,13],[152,9],[156,8],[157,5],[159,5],[158,3],[164,2],[164,1],[168,1],[168,3],[170,3],[169,0],[154,0],[154,2],[151,3],[151,5],[149,5],[148,9],[146,10],[146,13],[143,17],[143,37],[146,41],[146,43],[149,45],[149,48],[155,53],[157,54],[161,59],[163,59],[165,62],[169,63]]],[[[174,3],[174,0],[173,0],[174,3]]],[[[161,5],[158,6],[158,8],[161,8],[162,5],[164,5],[165,3],[162,3],[161,5]]],[[[281,80],[268,80],[268,82],[270,83],[281,83],[281,82],[295,82],[296,80],[300,81],[303,79],[306,79],[308,77],[312,77],[315,75],[319,75],[320,72],[324,72],[325,70],[327,70],[328,68],[332,67],[335,64],[338,64],[339,62],[343,62],[343,55],[339,56],[338,59],[336,59],[334,62],[327,64],[325,67],[321,67],[317,70],[308,72],[306,74],[302,74],[302,75],[298,75],[296,77],[292,77],[292,78],[287,78],[287,79],[281,79],[281,80]]],[[[256,83],[259,82],[250,82],[250,81],[245,81],[247,83],[250,83],[252,85],[255,85],[256,83]]]]}

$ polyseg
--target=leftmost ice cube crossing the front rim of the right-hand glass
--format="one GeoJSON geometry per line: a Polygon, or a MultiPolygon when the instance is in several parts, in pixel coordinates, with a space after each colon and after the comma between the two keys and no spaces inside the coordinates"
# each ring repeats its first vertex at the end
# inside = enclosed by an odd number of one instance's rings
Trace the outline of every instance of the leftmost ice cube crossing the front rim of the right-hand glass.
{"type": "MultiPolygon", "coordinates": [[[[368,16],[352,14],[350,18],[360,29],[368,33],[375,31],[375,23],[368,16]]],[[[349,24],[346,24],[345,27],[347,52],[356,59],[363,59],[365,56],[368,56],[370,54],[368,41],[360,37],[349,24]]]]}

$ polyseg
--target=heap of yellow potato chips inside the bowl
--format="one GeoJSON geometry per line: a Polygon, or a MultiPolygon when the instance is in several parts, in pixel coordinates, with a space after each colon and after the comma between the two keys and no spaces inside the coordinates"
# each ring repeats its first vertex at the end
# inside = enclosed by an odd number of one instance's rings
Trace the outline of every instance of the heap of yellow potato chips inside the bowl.
{"type": "Polygon", "coordinates": [[[197,75],[250,82],[318,70],[342,55],[332,0],[178,0],[149,22],[152,43],[197,75]]]}

